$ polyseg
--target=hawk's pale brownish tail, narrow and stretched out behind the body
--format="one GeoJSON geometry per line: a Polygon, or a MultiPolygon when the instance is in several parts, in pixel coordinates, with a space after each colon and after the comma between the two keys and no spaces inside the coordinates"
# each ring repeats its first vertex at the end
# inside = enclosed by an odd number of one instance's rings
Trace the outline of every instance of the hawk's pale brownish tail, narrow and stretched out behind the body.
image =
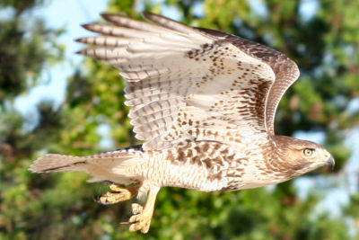
{"type": "Polygon", "coordinates": [[[92,175],[88,182],[128,183],[138,176],[128,175],[127,167],[143,162],[142,152],[136,149],[120,149],[92,156],[48,154],[38,158],[29,170],[32,173],[83,172],[92,175]]]}

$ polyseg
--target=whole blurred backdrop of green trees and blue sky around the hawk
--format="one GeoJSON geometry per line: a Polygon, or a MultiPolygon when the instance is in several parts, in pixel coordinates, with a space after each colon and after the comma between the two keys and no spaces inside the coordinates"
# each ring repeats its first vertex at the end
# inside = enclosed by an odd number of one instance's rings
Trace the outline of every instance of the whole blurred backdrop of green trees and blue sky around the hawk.
{"type": "Polygon", "coordinates": [[[0,239],[359,239],[359,1],[0,0],[0,239]],[[336,168],[255,190],[162,189],[148,235],[120,225],[130,203],[96,202],[106,183],[35,174],[47,153],[138,144],[118,71],[74,39],[99,13],[149,11],[284,52],[301,69],[276,134],[323,144],[336,168]]]}

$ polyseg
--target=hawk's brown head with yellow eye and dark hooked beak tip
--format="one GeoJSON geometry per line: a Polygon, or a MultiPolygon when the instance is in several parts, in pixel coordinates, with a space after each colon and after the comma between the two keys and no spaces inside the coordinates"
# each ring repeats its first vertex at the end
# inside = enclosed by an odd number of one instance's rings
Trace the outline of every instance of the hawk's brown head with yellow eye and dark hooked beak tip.
{"type": "Polygon", "coordinates": [[[319,144],[286,136],[275,136],[275,143],[280,172],[285,173],[288,178],[324,165],[334,167],[334,157],[319,144]]]}

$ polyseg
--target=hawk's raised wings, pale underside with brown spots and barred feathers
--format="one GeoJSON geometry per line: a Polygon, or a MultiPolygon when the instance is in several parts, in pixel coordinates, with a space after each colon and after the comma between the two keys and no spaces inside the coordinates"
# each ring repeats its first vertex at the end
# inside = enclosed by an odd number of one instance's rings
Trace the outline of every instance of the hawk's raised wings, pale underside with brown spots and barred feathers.
{"type": "Polygon", "coordinates": [[[273,134],[276,106],[299,73],[285,55],[151,13],[144,16],[156,24],[102,16],[113,24],[83,25],[102,35],[78,40],[97,47],[79,53],[120,70],[128,116],[145,150],[273,134]]]}

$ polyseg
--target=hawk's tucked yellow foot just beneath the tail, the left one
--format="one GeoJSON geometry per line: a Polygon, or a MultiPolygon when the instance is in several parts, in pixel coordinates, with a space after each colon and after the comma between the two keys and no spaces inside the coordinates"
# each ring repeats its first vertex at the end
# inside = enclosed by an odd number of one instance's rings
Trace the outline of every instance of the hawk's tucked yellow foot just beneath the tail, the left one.
{"type": "Polygon", "coordinates": [[[102,204],[115,204],[124,200],[132,199],[138,192],[140,183],[131,186],[124,186],[117,183],[109,185],[109,190],[99,200],[102,204]]]}

